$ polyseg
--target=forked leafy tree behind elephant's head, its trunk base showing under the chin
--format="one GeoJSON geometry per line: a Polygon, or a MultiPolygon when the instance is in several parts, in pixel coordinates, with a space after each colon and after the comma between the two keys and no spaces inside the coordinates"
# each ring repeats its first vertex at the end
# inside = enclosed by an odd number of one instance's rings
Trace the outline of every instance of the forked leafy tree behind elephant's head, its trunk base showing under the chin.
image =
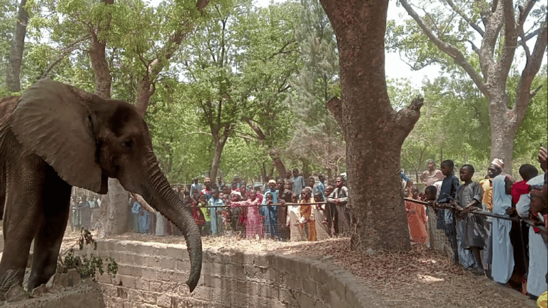
{"type": "MultiPolygon", "coordinates": [[[[56,18],[49,21],[39,18],[36,24],[50,25],[53,38],[59,41],[78,42],[82,37],[90,40],[87,53],[95,78],[94,92],[98,96],[111,97],[116,69],[133,68],[130,71],[137,73],[132,72],[132,78],[124,76],[119,82],[128,88],[136,84],[137,91],[125,98],[133,98],[138,111],[144,115],[158,74],[168,66],[171,56],[208,3],[208,0],[188,0],[178,5],[165,4],[155,11],[140,0],[126,0],[122,5],[113,0],[92,3],[44,0],[44,4],[39,5],[52,8],[51,15],[56,18]],[[162,24],[165,32],[157,31],[155,24],[162,24]]],[[[70,51],[61,56],[68,54],[70,51]]],[[[101,235],[125,232],[127,193],[118,180],[109,179],[106,199],[101,208],[101,235]]]]}

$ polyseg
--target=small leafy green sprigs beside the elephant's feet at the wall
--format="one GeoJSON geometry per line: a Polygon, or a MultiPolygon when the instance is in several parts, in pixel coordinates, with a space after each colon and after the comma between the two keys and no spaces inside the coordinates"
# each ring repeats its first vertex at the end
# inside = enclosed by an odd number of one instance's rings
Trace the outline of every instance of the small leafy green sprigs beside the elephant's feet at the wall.
{"type": "MultiPolygon", "coordinates": [[[[79,250],[83,250],[84,245],[92,245],[93,250],[97,250],[97,242],[93,240],[91,233],[88,230],[82,229],[80,232],[80,237],[76,240],[76,245],[78,245],[79,250]]],[[[103,258],[96,257],[95,255],[83,255],[82,257],[75,257],[74,251],[71,248],[68,250],[64,256],[59,255],[59,260],[57,261],[57,273],[66,273],[70,269],[76,269],[78,274],[82,279],[92,277],[95,279],[96,273],[103,274],[105,265],[103,263],[103,258]]],[[[118,272],[118,263],[112,257],[106,259],[106,272],[111,277],[116,275],[118,272]]]]}

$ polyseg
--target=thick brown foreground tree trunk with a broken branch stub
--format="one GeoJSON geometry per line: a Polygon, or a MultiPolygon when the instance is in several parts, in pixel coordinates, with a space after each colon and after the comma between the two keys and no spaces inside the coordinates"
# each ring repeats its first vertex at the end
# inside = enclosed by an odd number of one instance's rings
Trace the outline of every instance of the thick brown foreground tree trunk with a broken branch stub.
{"type": "Polygon", "coordinates": [[[338,42],[341,99],[328,108],[346,141],[352,247],[409,249],[400,187],[402,143],[420,116],[422,99],[395,111],[385,78],[388,1],[320,0],[338,42]]]}

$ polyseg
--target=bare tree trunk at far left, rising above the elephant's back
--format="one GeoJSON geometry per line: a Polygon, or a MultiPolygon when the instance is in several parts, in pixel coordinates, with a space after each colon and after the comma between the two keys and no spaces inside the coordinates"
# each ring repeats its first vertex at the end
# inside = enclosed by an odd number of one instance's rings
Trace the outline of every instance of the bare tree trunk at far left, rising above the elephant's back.
{"type": "Polygon", "coordinates": [[[25,5],[26,0],[21,0],[15,24],[14,40],[11,41],[11,50],[9,51],[6,86],[10,92],[21,91],[21,65],[23,63],[26,25],[29,24],[29,14],[25,10],[25,5]]]}

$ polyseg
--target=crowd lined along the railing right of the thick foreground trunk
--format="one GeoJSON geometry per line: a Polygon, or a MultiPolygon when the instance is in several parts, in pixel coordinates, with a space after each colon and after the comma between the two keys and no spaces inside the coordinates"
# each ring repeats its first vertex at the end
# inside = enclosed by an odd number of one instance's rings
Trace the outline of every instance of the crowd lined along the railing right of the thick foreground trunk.
{"type": "Polygon", "coordinates": [[[452,160],[420,176],[418,186],[404,189],[410,236],[429,245],[435,230],[445,232],[455,262],[486,275],[494,282],[517,289],[536,300],[548,287],[548,195],[545,148],[538,160],[544,173],[533,165],[520,166],[522,180],[503,173],[504,162],[495,158],[479,182],[475,168],[462,165],[459,178],[452,160]],[[426,205],[426,206],[425,206],[426,205]],[[430,211],[427,215],[427,211],[430,211]],[[435,224],[430,223],[435,220],[435,224]]]}

